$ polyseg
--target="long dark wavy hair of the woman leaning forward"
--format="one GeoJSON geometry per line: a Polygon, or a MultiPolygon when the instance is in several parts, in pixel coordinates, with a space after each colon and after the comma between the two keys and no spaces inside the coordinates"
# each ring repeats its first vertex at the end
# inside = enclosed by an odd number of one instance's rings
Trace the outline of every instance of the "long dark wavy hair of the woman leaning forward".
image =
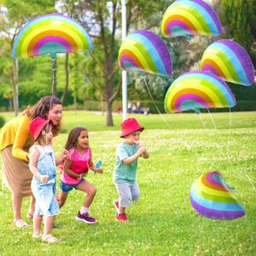
{"type": "MultiPolygon", "coordinates": [[[[61,100],[55,96],[44,96],[44,98],[41,98],[34,106],[26,108],[23,114],[26,114],[31,119],[35,119],[38,116],[43,119],[47,119],[49,110],[52,109],[55,105],[62,105],[61,100]]],[[[53,136],[58,135],[60,131],[61,122],[58,125],[53,126],[53,136]]]]}

